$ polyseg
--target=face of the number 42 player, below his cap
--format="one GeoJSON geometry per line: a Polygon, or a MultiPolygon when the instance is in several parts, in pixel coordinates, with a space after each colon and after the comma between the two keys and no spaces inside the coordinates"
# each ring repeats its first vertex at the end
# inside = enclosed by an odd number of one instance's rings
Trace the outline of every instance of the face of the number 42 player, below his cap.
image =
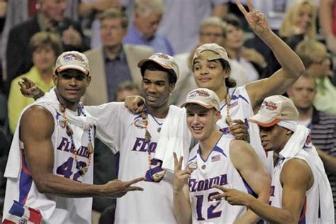
{"type": "Polygon", "coordinates": [[[60,102],[67,108],[78,103],[91,82],[91,77],[76,69],[66,69],[52,76],[60,102]]]}

